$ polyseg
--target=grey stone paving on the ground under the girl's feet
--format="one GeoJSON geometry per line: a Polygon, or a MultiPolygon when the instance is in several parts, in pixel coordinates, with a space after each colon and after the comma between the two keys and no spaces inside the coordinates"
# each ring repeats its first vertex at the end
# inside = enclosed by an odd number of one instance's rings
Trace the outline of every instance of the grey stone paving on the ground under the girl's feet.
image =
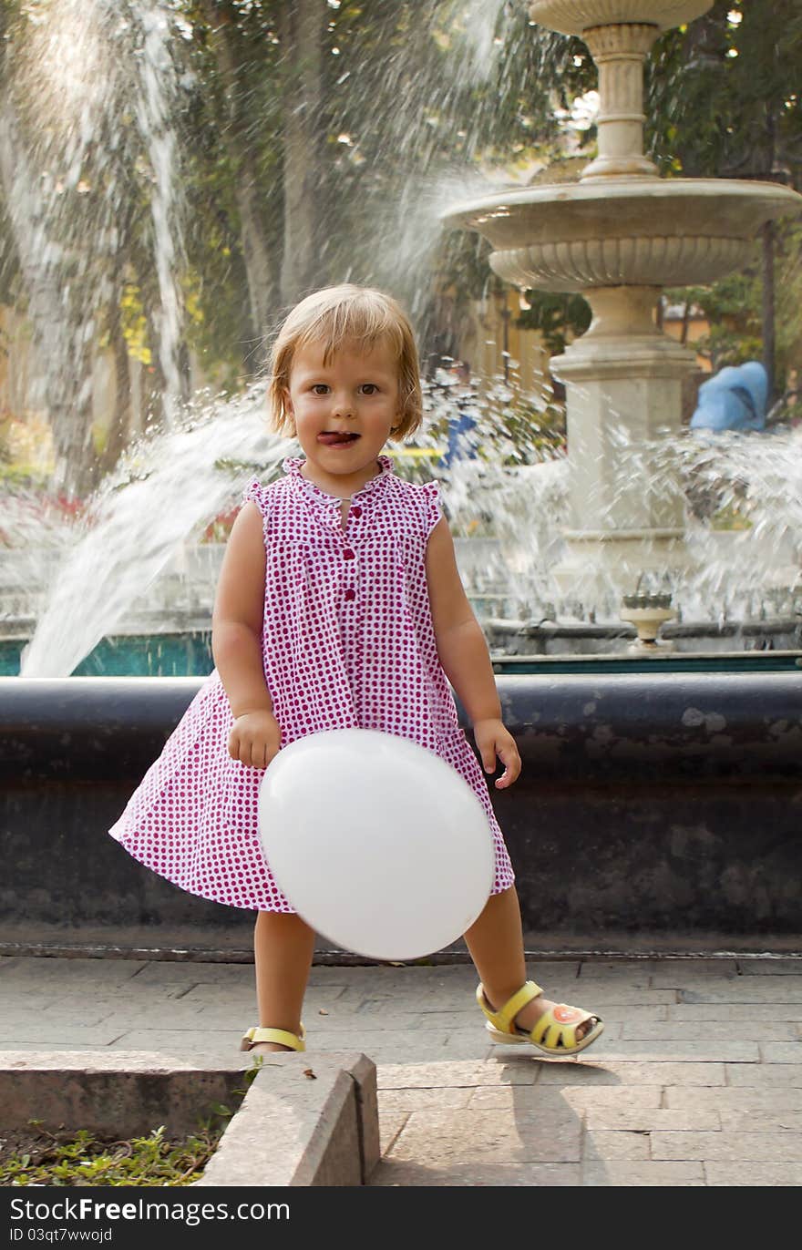
{"type": "MultiPolygon", "coordinates": [[[[802,959],[530,964],[597,1010],[586,1059],[487,1039],[467,964],[315,966],[308,1055],[377,1064],[377,1186],[802,1184],[802,959]]],[[[253,966],[0,958],[1,1050],[226,1056],[253,966]]]]}

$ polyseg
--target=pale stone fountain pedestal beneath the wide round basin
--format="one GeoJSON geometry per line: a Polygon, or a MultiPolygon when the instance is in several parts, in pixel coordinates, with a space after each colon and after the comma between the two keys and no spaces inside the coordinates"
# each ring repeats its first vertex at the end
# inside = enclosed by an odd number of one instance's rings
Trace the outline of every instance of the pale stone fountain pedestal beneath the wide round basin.
{"type": "Polygon", "coordinates": [[[657,462],[661,438],[679,432],[683,379],[696,354],[653,320],[654,288],[588,291],[593,321],[552,360],[566,384],[569,528],[553,570],[561,591],[609,610],[639,574],[688,566],[684,499],[657,462]]]}

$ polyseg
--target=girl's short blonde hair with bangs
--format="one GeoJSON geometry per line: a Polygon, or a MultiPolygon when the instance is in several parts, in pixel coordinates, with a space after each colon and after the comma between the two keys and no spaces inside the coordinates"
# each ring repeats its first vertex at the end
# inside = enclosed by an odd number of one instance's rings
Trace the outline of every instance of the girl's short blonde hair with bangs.
{"type": "Polygon", "coordinates": [[[323,348],[325,364],[345,344],[357,351],[372,351],[387,344],[398,366],[398,424],[392,438],[404,439],[418,429],[423,418],[420,366],[415,339],[399,304],[390,295],[370,286],[327,286],[297,304],[279,330],[270,352],[270,384],[268,401],[270,424],[279,434],[294,434],[292,415],[287,411],[285,392],[295,352],[315,342],[323,348]]]}

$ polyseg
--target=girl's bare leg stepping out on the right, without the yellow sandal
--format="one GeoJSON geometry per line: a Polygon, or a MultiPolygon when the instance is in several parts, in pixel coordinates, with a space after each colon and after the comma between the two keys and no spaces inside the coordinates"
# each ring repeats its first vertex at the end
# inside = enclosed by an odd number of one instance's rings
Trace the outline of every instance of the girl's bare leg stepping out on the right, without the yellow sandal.
{"type": "MultiPolygon", "coordinates": [[[[520,908],[514,886],[490,895],[484,911],[464,938],[484,986],[484,996],[498,1011],[527,980],[520,908]]],[[[533,1029],[539,1016],[552,1006],[551,999],[539,995],[518,1012],[515,1024],[522,1029],[533,1029]]],[[[592,1020],[579,1025],[577,1039],[583,1038],[592,1025],[592,1020]]]]}

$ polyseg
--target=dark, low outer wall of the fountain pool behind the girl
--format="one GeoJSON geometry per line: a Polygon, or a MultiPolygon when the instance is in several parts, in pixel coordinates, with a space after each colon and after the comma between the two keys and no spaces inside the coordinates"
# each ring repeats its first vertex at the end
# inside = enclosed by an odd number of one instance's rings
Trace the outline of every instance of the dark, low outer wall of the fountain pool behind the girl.
{"type": "MultiPolygon", "coordinates": [[[[678,935],[798,935],[798,670],[509,674],[497,686],[523,770],[490,795],[530,941],[642,950],[678,935]]],[[[154,948],[176,931],[193,948],[250,944],[253,912],[171,886],[106,835],[199,688],[0,680],[0,948],[133,932],[154,948]]]]}

